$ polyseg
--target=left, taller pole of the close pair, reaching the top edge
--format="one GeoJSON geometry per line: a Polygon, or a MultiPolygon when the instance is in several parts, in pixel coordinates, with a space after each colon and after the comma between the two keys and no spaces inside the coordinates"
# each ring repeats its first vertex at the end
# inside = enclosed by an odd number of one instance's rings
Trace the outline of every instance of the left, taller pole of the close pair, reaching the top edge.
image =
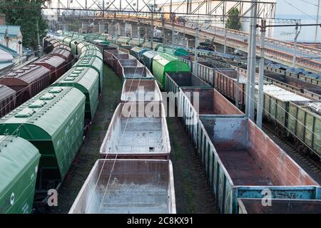
{"type": "Polygon", "coordinates": [[[256,60],[256,24],[257,24],[257,1],[252,0],[253,2],[253,23],[252,23],[252,43],[251,43],[251,63],[250,63],[250,88],[248,89],[248,93],[250,93],[249,105],[248,105],[248,117],[250,120],[254,121],[254,106],[255,106],[255,60],[256,60]]]}

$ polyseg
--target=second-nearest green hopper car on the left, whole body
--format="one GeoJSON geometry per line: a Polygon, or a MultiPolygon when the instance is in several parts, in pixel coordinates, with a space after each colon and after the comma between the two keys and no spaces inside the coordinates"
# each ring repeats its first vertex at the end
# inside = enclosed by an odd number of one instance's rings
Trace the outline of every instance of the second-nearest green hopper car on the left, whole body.
{"type": "Polygon", "coordinates": [[[0,135],[19,135],[41,153],[39,193],[63,180],[81,147],[85,103],[76,88],[49,87],[0,119],[0,135]]]}

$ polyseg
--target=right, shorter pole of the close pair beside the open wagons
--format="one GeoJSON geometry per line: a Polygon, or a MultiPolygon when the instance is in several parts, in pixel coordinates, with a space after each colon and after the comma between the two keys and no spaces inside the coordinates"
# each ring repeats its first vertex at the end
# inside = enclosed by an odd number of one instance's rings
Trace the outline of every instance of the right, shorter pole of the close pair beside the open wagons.
{"type": "Polygon", "coordinates": [[[258,83],[258,112],[256,115],[256,124],[262,129],[263,118],[263,77],[264,77],[264,58],[265,58],[265,32],[266,21],[261,21],[261,46],[260,46],[260,66],[259,66],[259,83],[258,83]]]}

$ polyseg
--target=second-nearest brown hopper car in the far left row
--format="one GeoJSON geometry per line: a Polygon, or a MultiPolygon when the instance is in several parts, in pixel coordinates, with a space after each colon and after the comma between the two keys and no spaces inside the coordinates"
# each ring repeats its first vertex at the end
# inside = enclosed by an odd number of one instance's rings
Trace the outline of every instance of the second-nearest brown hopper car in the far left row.
{"type": "Polygon", "coordinates": [[[16,91],[16,105],[24,103],[50,85],[50,70],[31,64],[0,78],[0,84],[16,91]]]}

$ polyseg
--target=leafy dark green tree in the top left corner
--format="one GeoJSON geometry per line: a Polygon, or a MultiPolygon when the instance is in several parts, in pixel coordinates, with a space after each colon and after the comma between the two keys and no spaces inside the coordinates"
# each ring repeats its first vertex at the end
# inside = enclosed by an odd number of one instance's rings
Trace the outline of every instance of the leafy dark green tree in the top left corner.
{"type": "Polygon", "coordinates": [[[36,48],[38,44],[36,23],[39,22],[40,38],[48,28],[42,17],[41,6],[45,0],[0,0],[0,13],[6,14],[6,24],[21,26],[23,46],[36,48]]]}

